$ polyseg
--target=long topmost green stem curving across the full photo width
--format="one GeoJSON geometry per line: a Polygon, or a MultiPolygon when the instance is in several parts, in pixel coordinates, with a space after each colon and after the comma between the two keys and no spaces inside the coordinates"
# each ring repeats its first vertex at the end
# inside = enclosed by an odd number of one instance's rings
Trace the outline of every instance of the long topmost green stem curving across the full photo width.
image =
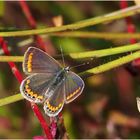
{"type": "Polygon", "coordinates": [[[109,22],[112,20],[121,19],[127,16],[132,16],[140,12],[140,6],[131,6],[129,8],[125,8],[123,10],[118,10],[103,16],[86,19],[80,22],[76,22],[69,25],[64,25],[60,27],[48,27],[44,29],[32,29],[32,30],[24,30],[24,31],[14,31],[14,32],[0,32],[0,36],[3,37],[11,37],[11,36],[26,36],[26,35],[36,35],[36,34],[47,34],[53,32],[60,32],[66,30],[76,30],[88,26],[93,26],[99,23],[109,22]]]}

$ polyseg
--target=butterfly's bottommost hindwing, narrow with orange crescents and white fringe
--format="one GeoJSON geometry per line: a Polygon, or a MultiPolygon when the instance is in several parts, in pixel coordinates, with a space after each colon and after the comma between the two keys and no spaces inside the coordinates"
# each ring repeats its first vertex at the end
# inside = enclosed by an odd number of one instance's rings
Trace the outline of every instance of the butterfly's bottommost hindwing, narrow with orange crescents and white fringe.
{"type": "Polygon", "coordinates": [[[62,110],[64,105],[64,93],[64,81],[62,81],[62,83],[55,88],[52,96],[44,102],[44,110],[48,116],[55,117],[62,110]]]}

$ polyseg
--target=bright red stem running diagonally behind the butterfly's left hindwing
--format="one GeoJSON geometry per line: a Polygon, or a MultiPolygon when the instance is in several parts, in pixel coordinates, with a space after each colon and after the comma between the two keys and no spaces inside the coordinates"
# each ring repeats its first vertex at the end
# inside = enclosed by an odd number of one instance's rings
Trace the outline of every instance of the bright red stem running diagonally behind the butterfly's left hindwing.
{"type": "MultiPolygon", "coordinates": [[[[10,51],[8,50],[7,43],[4,41],[4,39],[2,37],[0,37],[0,46],[2,47],[5,55],[10,55],[10,51]]],[[[18,70],[18,68],[16,67],[15,63],[14,62],[8,62],[8,64],[9,64],[13,74],[17,78],[18,82],[21,83],[22,80],[23,80],[23,77],[22,77],[20,71],[18,70]]],[[[33,111],[36,114],[38,120],[40,121],[40,124],[41,124],[42,128],[44,129],[47,138],[52,139],[52,135],[49,131],[49,127],[48,127],[45,119],[43,118],[41,112],[39,111],[39,108],[35,104],[32,108],[33,108],[33,111]]]]}

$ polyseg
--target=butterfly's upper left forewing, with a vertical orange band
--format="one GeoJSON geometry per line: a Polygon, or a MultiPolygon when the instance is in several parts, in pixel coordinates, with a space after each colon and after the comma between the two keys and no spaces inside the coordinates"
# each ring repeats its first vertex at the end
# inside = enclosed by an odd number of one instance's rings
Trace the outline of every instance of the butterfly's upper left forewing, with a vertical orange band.
{"type": "Polygon", "coordinates": [[[24,54],[23,71],[30,73],[56,73],[60,64],[47,53],[35,47],[30,47],[24,54]]]}

